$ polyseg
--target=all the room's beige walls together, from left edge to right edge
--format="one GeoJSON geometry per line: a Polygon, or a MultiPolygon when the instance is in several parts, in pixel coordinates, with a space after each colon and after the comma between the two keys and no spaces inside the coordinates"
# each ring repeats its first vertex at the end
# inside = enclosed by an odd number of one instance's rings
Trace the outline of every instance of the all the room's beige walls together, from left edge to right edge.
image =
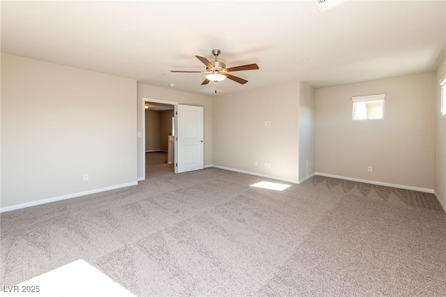
{"type": "Polygon", "coordinates": [[[316,91],[287,82],[214,98],[8,54],[1,62],[1,207],[136,181],[143,97],[204,107],[205,165],[298,181],[316,160],[325,174],[435,186],[445,205],[438,79],[446,61],[437,73],[316,91]],[[385,119],[353,122],[351,97],[375,93],[386,93],[385,119]]]}

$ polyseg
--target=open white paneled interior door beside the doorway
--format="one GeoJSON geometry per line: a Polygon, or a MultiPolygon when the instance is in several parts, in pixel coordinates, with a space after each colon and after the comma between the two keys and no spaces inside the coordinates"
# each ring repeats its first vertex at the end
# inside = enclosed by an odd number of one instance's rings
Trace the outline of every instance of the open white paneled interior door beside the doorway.
{"type": "Polygon", "coordinates": [[[178,105],[175,172],[203,169],[203,107],[178,105]]]}

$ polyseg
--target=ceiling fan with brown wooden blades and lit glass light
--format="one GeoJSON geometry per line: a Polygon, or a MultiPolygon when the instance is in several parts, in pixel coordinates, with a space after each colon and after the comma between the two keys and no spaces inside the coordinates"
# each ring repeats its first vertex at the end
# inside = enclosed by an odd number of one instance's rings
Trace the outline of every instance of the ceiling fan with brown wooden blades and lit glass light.
{"type": "Polygon", "coordinates": [[[210,62],[204,56],[196,56],[197,59],[201,61],[204,65],[206,65],[206,71],[181,71],[181,70],[170,70],[172,73],[207,73],[206,79],[201,84],[208,84],[209,82],[221,82],[223,79],[229,78],[234,82],[238,82],[239,84],[246,84],[248,81],[246,79],[236,77],[230,75],[229,73],[233,71],[242,71],[242,70],[256,70],[259,69],[256,63],[229,67],[226,68],[226,64],[218,61],[218,55],[220,54],[220,50],[212,50],[213,56],[215,56],[215,61],[210,62]]]}

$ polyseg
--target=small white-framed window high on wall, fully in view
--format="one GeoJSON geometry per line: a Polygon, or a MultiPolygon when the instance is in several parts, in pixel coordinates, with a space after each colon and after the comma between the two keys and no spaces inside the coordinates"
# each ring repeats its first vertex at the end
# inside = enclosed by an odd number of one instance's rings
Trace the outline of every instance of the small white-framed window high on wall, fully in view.
{"type": "Polygon", "coordinates": [[[356,96],[353,99],[353,121],[384,118],[385,94],[356,96]]]}

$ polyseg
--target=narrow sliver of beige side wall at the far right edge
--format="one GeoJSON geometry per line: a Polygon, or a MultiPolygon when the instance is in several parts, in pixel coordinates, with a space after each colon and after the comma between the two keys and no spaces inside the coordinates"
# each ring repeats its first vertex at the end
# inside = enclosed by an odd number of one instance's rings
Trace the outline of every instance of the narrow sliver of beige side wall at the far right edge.
{"type": "MultiPolygon", "coordinates": [[[[435,188],[436,195],[446,211],[446,115],[440,113],[441,89],[439,80],[446,74],[446,59],[437,70],[436,84],[436,137],[435,188]]],[[[446,94],[445,94],[446,96],[446,94]]],[[[446,100],[446,99],[445,99],[446,100]]]]}

